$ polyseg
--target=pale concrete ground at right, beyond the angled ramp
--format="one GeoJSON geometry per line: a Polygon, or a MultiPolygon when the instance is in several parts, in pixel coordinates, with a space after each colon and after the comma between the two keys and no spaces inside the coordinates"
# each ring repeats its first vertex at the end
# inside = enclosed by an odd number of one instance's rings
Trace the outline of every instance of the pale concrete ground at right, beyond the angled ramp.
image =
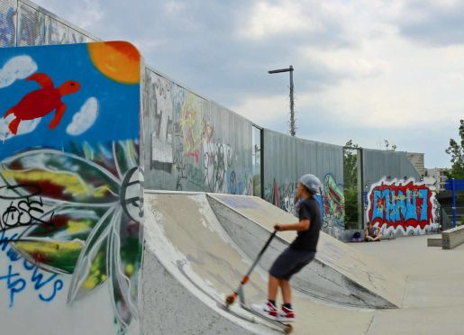
{"type": "Polygon", "coordinates": [[[405,276],[402,308],[376,311],[368,334],[464,334],[464,244],[427,247],[439,236],[349,243],[405,276]]]}

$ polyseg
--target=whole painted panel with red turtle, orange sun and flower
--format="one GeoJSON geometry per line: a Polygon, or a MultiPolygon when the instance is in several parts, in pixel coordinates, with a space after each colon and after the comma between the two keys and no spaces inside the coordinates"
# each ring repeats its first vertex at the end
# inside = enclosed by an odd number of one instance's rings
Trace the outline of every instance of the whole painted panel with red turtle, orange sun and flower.
{"type": "Polygon", "coordinates": [[[0,320],[16,333],[139,333],[140,77],[123,41],[0,49],[0,320]]]}

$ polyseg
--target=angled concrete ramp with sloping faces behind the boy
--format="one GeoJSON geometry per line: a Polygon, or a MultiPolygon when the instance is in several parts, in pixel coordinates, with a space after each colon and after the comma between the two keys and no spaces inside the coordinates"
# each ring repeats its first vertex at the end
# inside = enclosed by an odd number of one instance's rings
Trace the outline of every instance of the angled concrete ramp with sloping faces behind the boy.
{"type": "MultiPolygon", "coordinates": [[[[275,222],[296,222],[295,216],[258,197],[211,194],[208,199],[224,229],[249,257],[258,254],[275,222]]],[[[279,232],[261,265],[270,267],[295,237],[295,231],[279,232]]],[[[292,278],[292,285],[330,303],[395,308],[403,302],[405,277],[321,231],[316,259],[292,278]]]]}

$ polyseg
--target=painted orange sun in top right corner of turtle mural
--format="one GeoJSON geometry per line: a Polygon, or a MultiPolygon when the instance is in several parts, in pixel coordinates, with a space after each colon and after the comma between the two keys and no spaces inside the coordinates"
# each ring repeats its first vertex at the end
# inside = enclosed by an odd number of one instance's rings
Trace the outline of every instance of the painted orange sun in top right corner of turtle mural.
{"type": "Polygon", "coordinates": [[[107,41],[88,43],[95,67],[118,83],[137,84],[141,80],[141,55],[131,43],[107,41]]]}

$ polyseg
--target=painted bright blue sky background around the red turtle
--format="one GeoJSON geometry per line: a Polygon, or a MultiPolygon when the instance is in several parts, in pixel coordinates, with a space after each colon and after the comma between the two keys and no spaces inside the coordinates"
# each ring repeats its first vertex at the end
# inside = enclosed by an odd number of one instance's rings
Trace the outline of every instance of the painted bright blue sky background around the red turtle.
{"type": "MultiPolygon", "coordinates": [[[[23,149],[24,140],[27,140],[32,147],[62,149],[67,148],[70,141],[78,143],[86,140],[89,143],[96,143],[138,138],[139,86],[119,84],[105,77],[92,64],[86,44],[0,49],[0,68],[5,68],[8,60],[17,59],[18,56],[29,56],[36,64],[35,72],[48,75],[55,87],[67,80],[74,80],[80,84],[80,89],[74,94],[64,95],[61,98],[61,101],[67,105],[67,110],[55,129],[49,129],[49,123],[55,115],[52,112],[43,116],[33,131],[24,134],[18,131],[17,135],[3,141],[0,160],[23,149]],[[69,67],[69,64],[73,66],[69,67]],[[95,122],[86,125],[86,130],[82,134],[69,134],[68,125],[75,120],[73,117],[82,111],[82,106],[89,98],[96,99],[98,106],[95,122]],[[109,124],[111,127],[108,127],[109,124]]],[[[3,87],[0,105],[7,107],[2,115],[9,107],[18,104],[25,95],[40,88],[41,86],[35,81],[23,79],[3,87]]],[[[11,116],[14,119],[14,115],[11,116]]],[[[4,119],[1,121],[3,122],[4,119]]]]}

